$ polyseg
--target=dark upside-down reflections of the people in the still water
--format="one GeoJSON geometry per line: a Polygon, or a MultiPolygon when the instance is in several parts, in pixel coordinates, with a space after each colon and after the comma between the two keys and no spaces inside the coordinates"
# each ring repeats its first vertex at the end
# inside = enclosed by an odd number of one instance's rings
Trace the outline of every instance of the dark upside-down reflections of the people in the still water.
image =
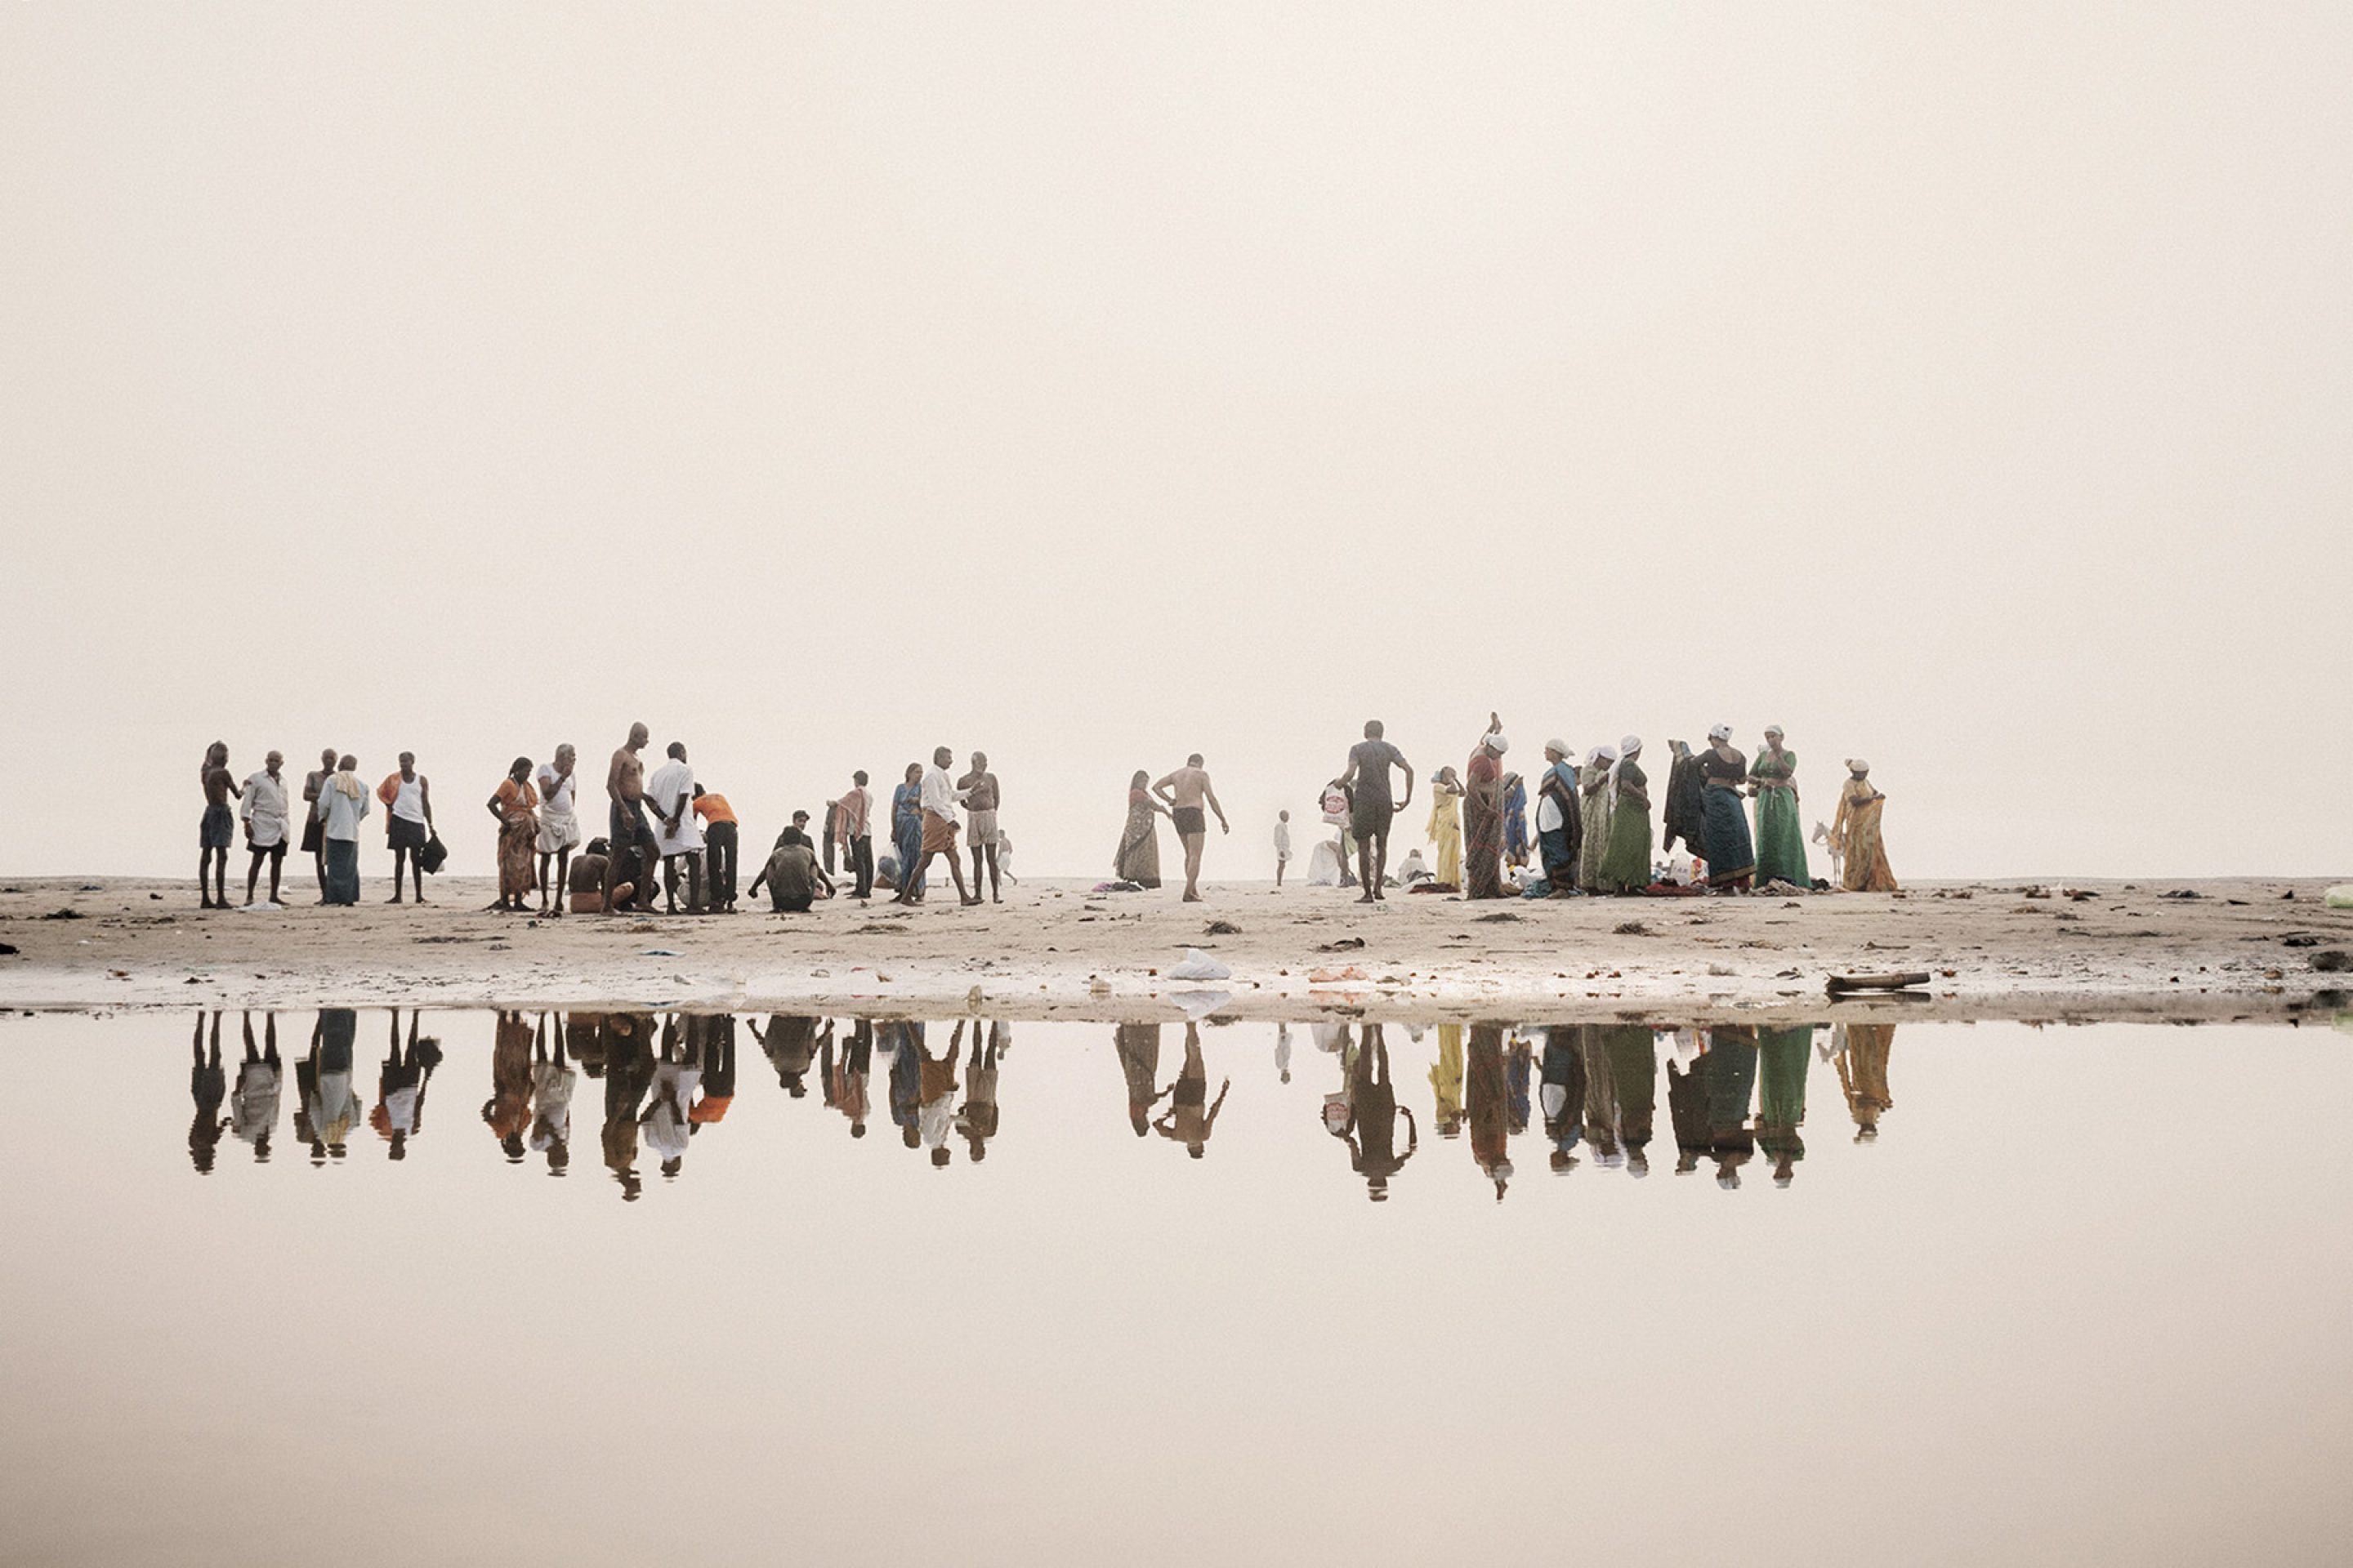
{"type": "MultiPolygon", "coordinates": [[[[776,1074],[784,1103],[802,1100],[816,1077],[821,1103],[864,1138],[873,1105],[875,1051],[882,1051],[885,1098],[906,1150],[932,1168],[988,1159],[1002,1107],[1000,1072],[1012,1048],[1002,1020],[962,1018],[932,1025],[920,1018],[816,1018],[772,1013],[748,1018],[753,1041],[776,1074]],[[934,1051],[932,1030],[948,1030],[934,1051]]],[[[1214,1032],[1214,1030],[1212,1030],[1214,1032]]],[[[1541,1138],[1553,1173],[1591,1166],[1598,1173],[1649,1173],[1649,1140],[1659,1103],[1659,1030],[1647,1025],[1506,1023],[1438,1025],[1435,1030],[1320,1020],[1311,1025],[1318,1053],[1334,1063],[1337,1088],[1322,1093],[1322,1131],[1348,1150],[1348,1171],[1365,1197],[1388,1201],[1421,1150],[1421,1121],[1398,1100],[1391,1034],[1409,1056],[1428,1060],[1431,1126],[1440,1138],[1468,1128],[1471,1161],[1497,1201],[1511,1192],[1513,1140],[1541,1138]],[[1428,1053],[1428,1056],[1424,1056],[1428,1053]]],[[[188,1159],[212,1173],[221,1133],[252,1147],[268,1164],[285,1072],[278,1056],[278,1016],[242,1018],[245,1053],[231,1093],[221,1060],[221,1013],[195,1016],[191,1041],[188,1159]],[[224,1114],[226,1105],[226,1114],[224,1114]]],[[[348,1157],[360,1121],[353,1084],[358,1013],[325,1009],[311,1046],[294,1065],[294,1133],[322,1166],[348,1157]]],[[[1713,1025],[1668,1030],[1666,1103],[1675,1131],[1675,1171],[1713,1168],[1725,1190],[1762,1152],[1777,1187],[1795,1180],[1805,1159],[1805,1093],[1821,1025],[1713,1025]]],[[[1101,1037],[1096,1037],[1101,1039],[1101,1037]]],[[[1289,1081],[1292,1025],[1275,1027],[1275,1077],[1289,1081]]],[[[1202,1159],[1217,1133],[1233,1079],[1219,1074],[1209,1093],[1209,1058],[1200,1023],[1184,1025],[1184,1058],[1172,1081],[1160,1081],[1162,1025],[1122,1023],[1111,1030],[1111,1053],[1127,1091],[1127,1126],[1139,1138],[1160,1133],[1202,1159]]],[[[1821,1060],[1835,1063],[1838,1084],[1854,1117],[1857,1143],[1878,1135],[1887,1095],[1889,1023],[1835,1025],[1821,1060]]],[[[384,1065],[369,1126],[388,1159],[407,1159],[424,1131],[426,1093],[442,1067],[440,1039],[424,1032],[409,1009],[388,1013],[384,1065]]],[[[1078,1070],[1078,1067],[1073,1067],[1078,1070]]],[[[1407,1072],[1419,1063],[1407,1063],[1407,1072]]],[[[499,1011],[489,1025],[489,1098],[482,1124],[508,1164],[529,1154],[551,1175],[572,1164],[572,1095],[581,1079],[602,1079],[605,1168],[624,1201],[645,1192],[642,1166],[666,1180],[685,1173],[694,1138],[725,1121],[736,1100],[736,1018],[729,1013],[522,1013],[499,1011]]],[[[1334,1081],[1327,1079],[1327,1081],[1334,1081]]],[[[1268,1091],[1278,1093],[1278,1091],[1268,1091]]],[[[762,1095],[765,1098],[765,1095],[762,1095]]],[[[774,1100],[769,1100],[774,1103],[774,1100]]],[[[769,1112],[758,1112],[760,1117],[769,1112]]],[[[795,1112],[798,1114],[798,1112],[795,1112]]],[[[1459,1166],[1454,1166],[1459,1168],[1459,1166]]]]}

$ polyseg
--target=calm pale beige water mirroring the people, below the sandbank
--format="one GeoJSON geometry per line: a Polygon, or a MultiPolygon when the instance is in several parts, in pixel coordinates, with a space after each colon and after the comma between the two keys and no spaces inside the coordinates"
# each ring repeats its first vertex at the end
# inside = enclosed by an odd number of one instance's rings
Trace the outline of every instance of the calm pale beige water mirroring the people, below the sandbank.
{"type": "Polygon", "coordinates": [[[9,1018],[0,1561],[2346,1561],[2346,1103],[2285,1027],[9,1018]]]}

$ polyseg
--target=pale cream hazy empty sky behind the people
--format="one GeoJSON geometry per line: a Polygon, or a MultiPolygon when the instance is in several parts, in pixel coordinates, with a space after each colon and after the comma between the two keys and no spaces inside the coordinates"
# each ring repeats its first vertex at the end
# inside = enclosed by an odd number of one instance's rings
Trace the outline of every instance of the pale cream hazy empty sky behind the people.
{"type": "MultiPolygon", "coordinates": [[[[631,719],[1031,872],[1379,715],[2353,872],[2344,5],[0,7],[0,872],[631,719]]],[[[1419,827],[1419,811],[1414,813],[1419,827]]],[[[1301,835],[1306,844],[1311,835],[1301,835]]],[[[242,856],[240,856],[242,860],[242,856]]],[[[381,851],[372,851],[374,872],[381,851]]]]}

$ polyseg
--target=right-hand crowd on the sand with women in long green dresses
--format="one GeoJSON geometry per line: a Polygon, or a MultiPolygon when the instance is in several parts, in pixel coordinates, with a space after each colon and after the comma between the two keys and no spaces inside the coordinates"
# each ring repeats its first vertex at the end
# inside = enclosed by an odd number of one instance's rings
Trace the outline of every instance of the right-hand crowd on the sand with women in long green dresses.
{"type": "MultiPolygon", "coordinates": [[[[1527,783],[1504,769],[1511,741],[1499,715],[1457,771],[1431,776],[1428,839],[1435,865],[1419,851],[1395,879],[1409,891],[1464,898],[1581,893],[1689,893],[1701,886],[1746,893],[1751,889],[1812,891],[1805,832],[1798,820],[1798,752],[1781,726],[1765,731],[1755,759],[1732,745],[1732,726],[1708,731],[1706,750],[1668,741],[1661,851],[1682,839],[1692,856],[1689,877],[1668,879],[1652,860],[1652,780],[1642,766],[1642,738],[1595,745],[1572,762],[1565,741],[1546,741],[1537,776],[1534,839],[1527,832],[1527,783]],[[1748,799],[1755,802],[1751,835],[1748,799]],[[1534,865],[1529,858],[1534,851],[1534,865]]],[[[1141,778],[1141,773],[1139,773],[1141,778]]],[[[1134,795],[1129,797],[1134,799],[1134,795]]],[[[1360,903],[1381,903],[1391,886],[1388,839],[1395,816],[1414,799],[1414,769],[1379,719],[1348,750],[1348,764],[1325,790],[1325,820],[1341,830],[1339,879],[1362,889],[1360,903]],[[1393,790],[1393,773],[1402,790],[1393,790]],[[1348,853],[1353,846],[1353,856],[1348,853]],[[1348,877],[1348,860],[1355,877],[1348,877]]],[[[1871,764],[1847,762],[1838,795],[1838,820],[1824,830],[1845,891],[1889,893],[1897,889],[1880,842],[1880,806],[1887,797],[1871,785],[1871,764]]],[[[1148,827],[1148,818],[1146,818],[1148,827]]],[[[1136,830],[1129,809],[1129,835],[1136,830]]],[[[1122,856],[1125,856],[1122,844],[1122,856]]],[[[1292,858],[1289,813],[1275,823],[1275,884],[1292,858]]],[[[1828,884],[1824,884],[1828,886],[1828,884]]]]}

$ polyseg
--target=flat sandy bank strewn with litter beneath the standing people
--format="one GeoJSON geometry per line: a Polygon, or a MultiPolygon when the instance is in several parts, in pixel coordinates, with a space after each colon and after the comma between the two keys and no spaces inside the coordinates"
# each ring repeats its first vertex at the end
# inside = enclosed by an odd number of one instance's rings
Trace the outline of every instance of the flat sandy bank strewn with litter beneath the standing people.
{"type": "MultiPolygon", "coordinates": [[[[805,917],[492,914],[482,879],[435,903],[200,912],[188,882],[26,879],[0,891],[0,1006],[732,1006],[1174,1016],[1186,990],[1245,1018],[1365,1009],[1391,1018],[1824,1013],[1824,978],[1927,969],[1920,1018],[2297,1018],[2337,1009],[2353,912],[2325,882],[1937,884],[1899,896],[1588,898],[1565,903],[1226,884],[1087,893],[1028,882],[1002,907],[849,900],[805,917]],[[2068,889],[2087,893],[2071,898],[2068,889]],[[2195,898],[2167,896],[2195,893],[2195,898]],[[45,919],[73,910],[80,919],[45,919]],[[1209,933],[1212,922],[1235,931],[1209,933]],[[1362,943],[1362,945],[1353,945],[1362,943]],[[1188,987],[1188,945],[1233,969],[1188,987]],[[976,994],[976,1001],[974,1001],[976,994]]],[[[308,896],[308,889],[304,889],[308,896]]],[[[376,884],[374,896],[384,896],[376,884]]],[[[1205,1006],[1193,999],[1193,1006],[1205,1006]]],[[[1859,1004],[1842,1004],[1859,1006],[1859,1004]]],[[[1868,1006],[1868,1004],[1866,1004],[1868,1006]]]]}

